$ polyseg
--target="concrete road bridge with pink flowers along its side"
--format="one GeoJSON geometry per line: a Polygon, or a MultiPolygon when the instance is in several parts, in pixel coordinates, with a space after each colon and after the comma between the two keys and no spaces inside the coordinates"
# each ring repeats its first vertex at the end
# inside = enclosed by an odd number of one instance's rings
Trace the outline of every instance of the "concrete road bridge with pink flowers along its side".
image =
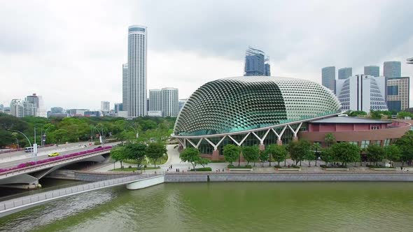
{"type": "Polygon", "coordinates": [[[104,161],[102,155],[108,154],[111,148],[111,146],[98,147],[38,161],[21,159],[18,166],[15,166],[16,162],[13,162],[10,165],[14,166],[0,168],[0,185],[3,187],[33,189],[38,186],[38,180],[63,166],[80,161],[104,161]]]}

